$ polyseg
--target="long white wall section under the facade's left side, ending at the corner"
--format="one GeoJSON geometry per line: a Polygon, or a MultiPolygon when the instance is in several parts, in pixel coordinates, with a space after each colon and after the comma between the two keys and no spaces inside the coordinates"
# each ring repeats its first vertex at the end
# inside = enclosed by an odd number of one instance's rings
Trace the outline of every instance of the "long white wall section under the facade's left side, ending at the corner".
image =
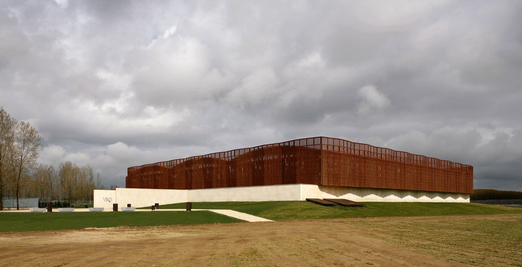
{"type": "Polygon", "coordinates": [[[248,186],[188,190],[189,202],[299,201],[301,185],[248,186]]]}

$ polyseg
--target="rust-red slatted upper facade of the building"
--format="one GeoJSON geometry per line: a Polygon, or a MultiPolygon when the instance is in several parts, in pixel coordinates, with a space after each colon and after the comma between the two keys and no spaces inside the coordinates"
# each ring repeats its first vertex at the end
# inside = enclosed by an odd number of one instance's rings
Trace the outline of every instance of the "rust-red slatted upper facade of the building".
{"type": "Polygon", "coordinates": [[[473,192],[473,166],[313,137],[129,167],[127,188],[203,189],[313,184],[473,192]]]}

